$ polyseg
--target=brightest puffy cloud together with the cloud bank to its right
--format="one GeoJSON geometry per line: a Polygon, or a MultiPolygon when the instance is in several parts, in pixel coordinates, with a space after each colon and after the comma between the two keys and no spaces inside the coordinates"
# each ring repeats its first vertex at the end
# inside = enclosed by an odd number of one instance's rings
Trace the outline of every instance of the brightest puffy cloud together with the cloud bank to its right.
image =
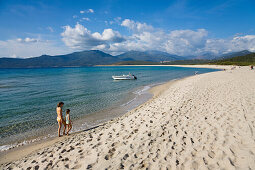
{"type": "Polygon", "coordinates": [[[62,40],[68,47],[74,49],[100,49],[111,54],[129,50],[160,50],[171,54],[191,56],[206,52],[221,54],[232,51],[255,51],[255,35],[235,36],[230,39],[208,38],[208,31],[172,30],[164,31],[153,28],[146,23],[125,19],[119,23],[131,32],[128,36],[121,35],[110,28],[100,34],[92,33],[80,24],[74,28],[64,27],[62,40]]]}

